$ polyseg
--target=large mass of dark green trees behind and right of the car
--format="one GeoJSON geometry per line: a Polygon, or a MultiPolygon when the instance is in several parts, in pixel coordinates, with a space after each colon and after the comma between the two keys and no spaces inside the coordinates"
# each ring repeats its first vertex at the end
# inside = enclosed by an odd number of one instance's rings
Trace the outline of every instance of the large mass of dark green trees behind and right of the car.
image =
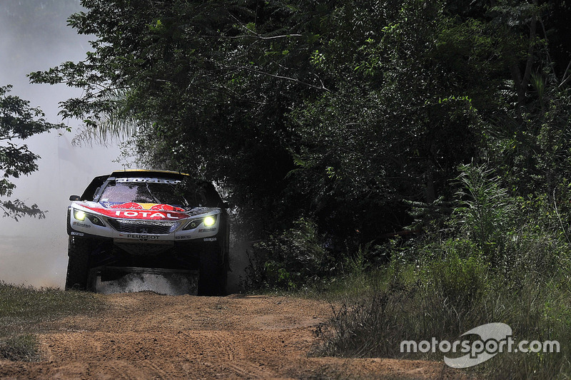
{"type": "Polygon", "coordinates": [[[82,5],[69,23],[92,51],[31,80],[84,90],[61,112],[86,138],[134,132],[142,163],[218,181],[261,240],[258,284],[310,281],[307,252],[361,252],[363,268],[453,246],[509,272],[515,247],[551,233],[520,239],[540,213],[522,205],[570,211],[560,1],[82,5]],[[425,235],[386,241],[410,225],[425,235]]]}

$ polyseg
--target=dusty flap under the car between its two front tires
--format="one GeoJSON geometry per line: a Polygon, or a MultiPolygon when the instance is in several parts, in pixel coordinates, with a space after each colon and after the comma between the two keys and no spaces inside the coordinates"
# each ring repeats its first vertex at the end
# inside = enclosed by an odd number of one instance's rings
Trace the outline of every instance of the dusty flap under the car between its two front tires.
{"type": "Polygon", "coordinates": [[[198,271],[141,267],[96,267],[89,272],[96,293],[156,292],[178,296],[198,294],[198,271]]]}

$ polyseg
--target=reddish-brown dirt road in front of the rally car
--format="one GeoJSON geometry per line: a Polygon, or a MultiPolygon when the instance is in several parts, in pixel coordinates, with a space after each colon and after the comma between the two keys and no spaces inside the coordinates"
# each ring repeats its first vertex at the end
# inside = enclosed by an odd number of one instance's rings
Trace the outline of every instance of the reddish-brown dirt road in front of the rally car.
{"type": "Polygon", "coordinates": [[[290,297],[111,294],[95,317],[41,334],[44,360],[0,361],[0,379],[455,379],[430,361],[308,357],[325,302],[290,297]]]}

